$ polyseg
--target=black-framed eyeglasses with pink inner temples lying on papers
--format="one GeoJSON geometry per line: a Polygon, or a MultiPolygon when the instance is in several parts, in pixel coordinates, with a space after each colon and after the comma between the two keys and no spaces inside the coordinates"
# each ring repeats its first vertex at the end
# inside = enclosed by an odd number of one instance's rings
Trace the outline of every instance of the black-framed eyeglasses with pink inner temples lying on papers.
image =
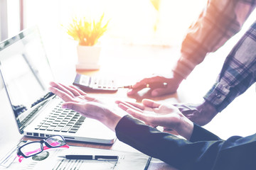
{"type": "Polygon", "coordinates": [[[60,135],[53,135],[47,137],[44,140],[29,142],[18,148],[17,156],[19,157],[18,162],[21,162],[23,158],[32,157],[36,154],[40,154],[43,150],[55,148],[55,147],[66,147],[69,146],[66,144],[64,138],[60,135]],[[43,143],[46,146],[43,146],[43,143]]]}

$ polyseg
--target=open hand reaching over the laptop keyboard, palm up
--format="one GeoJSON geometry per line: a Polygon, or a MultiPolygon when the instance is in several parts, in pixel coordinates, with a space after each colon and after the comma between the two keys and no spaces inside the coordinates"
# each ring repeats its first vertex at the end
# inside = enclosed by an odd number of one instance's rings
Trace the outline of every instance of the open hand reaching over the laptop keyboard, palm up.
{"type": "Polygon", "coordinates": [[[50,82],[49,90],[65,101],[63,108],[69,108],[81,113],[87,118],[99,120],[111,130],[114,130],[121,115],[115,114],[104,101],[87,95],[75,86],[65,86],[50,82]]]}

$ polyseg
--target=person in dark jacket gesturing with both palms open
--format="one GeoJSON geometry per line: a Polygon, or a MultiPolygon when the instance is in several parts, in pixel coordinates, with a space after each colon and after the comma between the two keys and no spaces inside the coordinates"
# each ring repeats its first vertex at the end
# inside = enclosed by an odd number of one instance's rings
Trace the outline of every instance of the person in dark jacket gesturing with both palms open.
{"type": "Polygon", "coordinates": [[[116,132],[120,141],[177,169],[256,168],[256,134],[221,140],[208,130],[192,123],[172,105],[144,99],[142,103],[116,101],[119,106],[117,107],[109,100],[98,99],[74,86],[55,82],[50,83],[49,90],[63,98],[63,108],[99,120],[116,132]],[[151,125],[172,128],[183,138],[161,132],[151,125]]]}

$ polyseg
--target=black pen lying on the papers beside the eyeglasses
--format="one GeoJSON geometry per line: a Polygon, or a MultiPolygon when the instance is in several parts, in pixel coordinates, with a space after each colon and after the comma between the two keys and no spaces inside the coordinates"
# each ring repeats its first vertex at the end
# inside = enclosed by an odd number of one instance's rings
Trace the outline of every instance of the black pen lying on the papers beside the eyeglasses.
{"type": "Polygon", "coordinates": [[[65,156],[59,156],[65,159],[86,159],[86,160],[97,160],[97,161],[117,161],[118,156],[112,155],[84,155],[84,154],[68,154],[65,156]]]}

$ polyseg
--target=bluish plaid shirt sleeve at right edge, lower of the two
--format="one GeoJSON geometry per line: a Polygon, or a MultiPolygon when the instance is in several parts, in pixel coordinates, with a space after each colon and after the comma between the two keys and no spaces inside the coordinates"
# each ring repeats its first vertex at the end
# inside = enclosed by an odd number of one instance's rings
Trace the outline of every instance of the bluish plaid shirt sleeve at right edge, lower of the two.
{"type": "Polygon", "coordinates": [[[256,21],[233,47],[216,83],[204,96],[218,112],[256,81],[256,21]]]}

